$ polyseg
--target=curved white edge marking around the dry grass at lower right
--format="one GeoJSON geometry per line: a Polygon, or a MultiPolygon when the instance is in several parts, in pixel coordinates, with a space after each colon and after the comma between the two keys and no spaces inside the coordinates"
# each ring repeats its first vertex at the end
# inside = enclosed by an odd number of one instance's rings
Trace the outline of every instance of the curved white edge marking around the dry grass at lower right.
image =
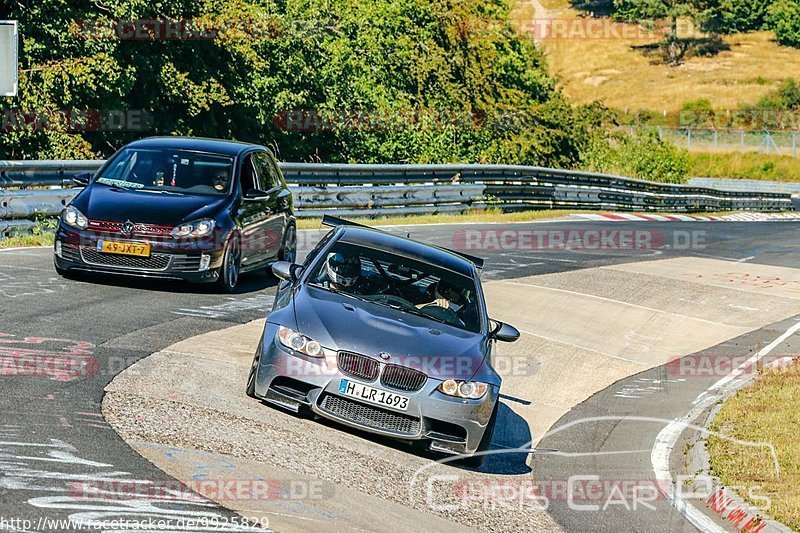
{"type": "Polygon", "coordinates": [[[718,526],[710,517],[703,514],[691,503],[683,499],[675,491],[672,482],[672,474],[669,469],[669,458],[672,449],[678,442],[684,430],[690,426],[690,422],[700,416],[708,407],[719,401],[729,389],[736,389],[746,382],[746,378],[740,378],[745,369],[753,368],[759,359],[769,354],[777,348],[783,341],[794,335],[800,330],[800,322],[787,329],[780,337],[772,341],[768,346],[755,354],[753,357],[739,365],[730,374],[711,385],[704,392],[700,393],[692,402],[694,407],[682,418],[676,418],[667,424],[656,437],[653,449],[650,453],[650,462],[656,479],[662,482],[662,486],[667,489],[667,499],[687,520],[701,531],[724,532],[725,529],[718,526]],[[740,378],[736,383],[735,379],[740,378]],[[729,389],[726,389],[729,386],[729,389]],[[715,393],[716,392],[716,393],[715,393]]]}

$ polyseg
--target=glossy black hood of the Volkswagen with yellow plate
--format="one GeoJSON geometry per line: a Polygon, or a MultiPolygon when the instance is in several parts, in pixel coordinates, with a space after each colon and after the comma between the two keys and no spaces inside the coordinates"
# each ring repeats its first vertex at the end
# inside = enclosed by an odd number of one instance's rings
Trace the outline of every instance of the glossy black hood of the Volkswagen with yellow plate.
{"type": "Polygon", "coordinates": [[[225,197],[160,194],[90,185],[72,205],[95,220],[177,226],[181,222],[213,216],[225,200],[225,197]]]}

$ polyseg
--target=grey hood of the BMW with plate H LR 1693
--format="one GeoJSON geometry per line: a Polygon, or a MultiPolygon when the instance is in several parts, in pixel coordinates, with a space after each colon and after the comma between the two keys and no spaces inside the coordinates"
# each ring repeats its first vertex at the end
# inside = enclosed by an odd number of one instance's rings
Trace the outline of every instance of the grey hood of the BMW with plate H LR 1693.
{"type": "Polygon", "coordinates": [[[485,335],[402,311],[302,286],[294,298],[298,331],[332,350],[416,368],[437,379],[469,379],[489,351],[485,335]]]}

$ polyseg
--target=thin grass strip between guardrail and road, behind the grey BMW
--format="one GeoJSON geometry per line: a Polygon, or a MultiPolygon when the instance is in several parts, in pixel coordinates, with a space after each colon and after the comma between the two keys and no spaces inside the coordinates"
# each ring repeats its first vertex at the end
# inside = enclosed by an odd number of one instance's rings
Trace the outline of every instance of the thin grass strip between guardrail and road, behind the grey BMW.
{"type": "MultiPolygon", "coordinates": [[[[499,209],[487,209],[466,215],[413,215],[408,217],[345,217],[347,220],[359,222],[368,226],[394,226],[415,224],[460,224],[464,222],[530,222],[534,220],[547,220],[572,215],[574,213],[598,213],[599,211],[569,211],[548,209],[541,211],[520,211],[518,213],[503,213],[499,209]]],[[[334,213],[331,213],[334,214],[334,213]]],[[[318,229],[322,219],[303,218],[298,220],[298,229],[318,229]]]]}

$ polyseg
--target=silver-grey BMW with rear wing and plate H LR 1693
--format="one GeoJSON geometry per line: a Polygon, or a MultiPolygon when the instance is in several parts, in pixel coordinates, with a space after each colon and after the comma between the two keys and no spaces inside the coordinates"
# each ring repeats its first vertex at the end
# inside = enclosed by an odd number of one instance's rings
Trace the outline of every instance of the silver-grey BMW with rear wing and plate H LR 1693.
{"type": "Polygon", "coordinates": [[[278,286],[247,395],[479,466],[497,420],[481,259],[325,217],[333,229],[278,286]]]}

